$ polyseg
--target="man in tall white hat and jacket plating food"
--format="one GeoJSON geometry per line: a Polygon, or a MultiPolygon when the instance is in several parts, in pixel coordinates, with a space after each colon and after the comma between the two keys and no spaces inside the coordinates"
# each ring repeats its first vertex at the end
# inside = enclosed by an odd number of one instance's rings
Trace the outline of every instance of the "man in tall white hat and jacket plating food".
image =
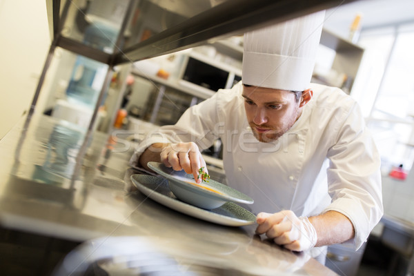
{"type": "Polygon", "coordinates": [[[359,106],[311,83],[323,21],[317,12],[244,34],[242,81],[148,135],[130,160],[197,179],[200,152],[220,138],[228,185],[255,200],[257,234],[322,263],[327,245],[362,246],[383,214],[380,156],[359,106]]]}

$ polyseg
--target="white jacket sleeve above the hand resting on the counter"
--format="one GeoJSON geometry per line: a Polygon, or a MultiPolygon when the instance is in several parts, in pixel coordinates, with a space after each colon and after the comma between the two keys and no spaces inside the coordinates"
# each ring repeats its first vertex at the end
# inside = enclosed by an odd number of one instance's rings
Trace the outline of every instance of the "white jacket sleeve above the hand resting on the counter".
{"type": "Polygon", "coordinates": [[[380,155],[357,103],[338,124],[328,159],[328,193],[332,203],[325,211],[335,210],[350,219],[357,250],[384,213],[380,155]]]}

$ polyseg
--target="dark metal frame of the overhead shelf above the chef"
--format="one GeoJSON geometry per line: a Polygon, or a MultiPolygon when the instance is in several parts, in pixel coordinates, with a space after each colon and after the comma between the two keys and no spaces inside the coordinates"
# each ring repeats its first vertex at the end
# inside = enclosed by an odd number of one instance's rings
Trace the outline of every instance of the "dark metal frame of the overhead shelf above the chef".
{"type": "MultiPolygon", "coordinates": [[[[121,49],[112,55],[85,46],[79,41],[62,37],[59,32],[61,26],[63,26],[62,22],[66,17],[70,1],[66,1],[61,15],[59,14],[61,0],[46,1],[48,8],[53,11],[53,22],[50,22],[50,27],[53,28],[55,35],[53,39],[55,46],[115,66],[120,63],[138,61],[184,50],[205,43],[209,39],[229,37],[233,34],[246,32],[246,30],[286,21],[356,0],[228,0],[206,10],[206,12],[201,12],[201,14],[187,19],[177,26],[155,34],[146,41],[121,49]]],[[[132,6],[136,2],[137,0],[130,1],[128,12],[131,12],[132,6]]],[[[128,14],[127,17],[129,17],[128,14]]],[[[127,23],[128,18],[122,24],[123,30],[127,23]]],[[[117,45],[119,45],[120,39],[121,37],[117,40],[117,45]]]]}

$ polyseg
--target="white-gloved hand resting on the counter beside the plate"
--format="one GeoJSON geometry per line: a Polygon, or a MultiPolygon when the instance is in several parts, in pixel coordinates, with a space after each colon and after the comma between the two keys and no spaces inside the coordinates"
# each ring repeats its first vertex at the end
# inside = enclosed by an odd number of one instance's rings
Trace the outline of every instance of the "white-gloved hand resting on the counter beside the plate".
{"type": "Polygon", "coordinates": [[[313,248],[317,242],[316,230],[307,217],[297,217],[291,210],[279,213],[259,213],[256,233],[266,233],[276,244],[293,251],[313,248]]]}

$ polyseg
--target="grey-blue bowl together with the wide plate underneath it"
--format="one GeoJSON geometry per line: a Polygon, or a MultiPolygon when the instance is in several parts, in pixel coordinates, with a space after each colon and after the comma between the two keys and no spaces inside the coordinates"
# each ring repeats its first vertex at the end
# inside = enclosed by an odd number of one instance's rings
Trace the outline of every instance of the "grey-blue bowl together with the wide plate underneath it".
{"type": "Polygon", "coordinates": [[[151,199],[181,213],[228,226],[255,223],[255,215],[237,205],[253,199],[213,179],[197,184],[193,175],[175,171],[164,164],[149,162],[161,177],[132,175],[132,183],[151,199]]]}

